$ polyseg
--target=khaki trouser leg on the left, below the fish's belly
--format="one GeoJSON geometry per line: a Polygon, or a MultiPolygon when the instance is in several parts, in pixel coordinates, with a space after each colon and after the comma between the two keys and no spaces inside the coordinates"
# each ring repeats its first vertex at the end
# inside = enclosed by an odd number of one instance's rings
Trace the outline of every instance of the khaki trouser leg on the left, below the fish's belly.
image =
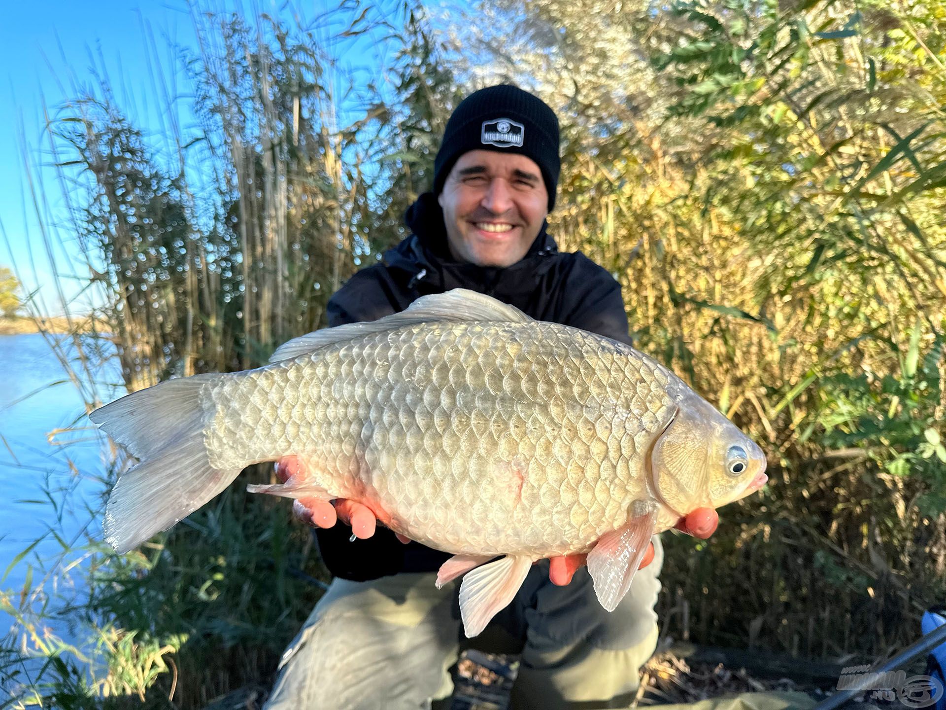
{"type": "Polygon", "coordinates": [[[435,575],[336,579],[289,644],[268,710],[422,708],[452,690],[459,622],[435,575]]]}

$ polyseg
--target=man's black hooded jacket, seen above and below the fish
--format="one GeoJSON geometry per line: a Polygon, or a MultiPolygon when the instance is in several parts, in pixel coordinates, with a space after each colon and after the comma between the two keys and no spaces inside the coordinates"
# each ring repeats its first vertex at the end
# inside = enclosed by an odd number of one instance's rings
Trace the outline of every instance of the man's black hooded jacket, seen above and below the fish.
{"type": "MultiPolygon", "coordinates": [[[[331,297],[329,326],[377,320],[403,311],[422,295],[464,288],[498,298],[537,320],[630,342],[621,286],[583,254],[560,253],[546,224],[521,261],[500,269],[450,257],[443,212],[429,192],[412,204],[405,222],[412,236],[331,297]]],[[[345,579],[432,572],[450,557],[419,542],[402,544],[382,527],[368,540],[349,541],[351,529],[342,524],[320,528],[316,537],[328,570],[345,579]]]]}

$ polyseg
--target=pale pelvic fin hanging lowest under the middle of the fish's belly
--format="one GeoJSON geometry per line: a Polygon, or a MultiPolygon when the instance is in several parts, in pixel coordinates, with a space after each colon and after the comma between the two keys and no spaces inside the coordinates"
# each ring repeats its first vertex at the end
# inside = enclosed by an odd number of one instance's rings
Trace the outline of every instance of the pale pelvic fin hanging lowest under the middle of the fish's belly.
{"type": "Polygon", "coordinates": [[[460,615],[466,638],[478,635],[496,612],[513,600],[532,562],[529,558],[507,556],[466,574],[460,585],[460,615]]]}

